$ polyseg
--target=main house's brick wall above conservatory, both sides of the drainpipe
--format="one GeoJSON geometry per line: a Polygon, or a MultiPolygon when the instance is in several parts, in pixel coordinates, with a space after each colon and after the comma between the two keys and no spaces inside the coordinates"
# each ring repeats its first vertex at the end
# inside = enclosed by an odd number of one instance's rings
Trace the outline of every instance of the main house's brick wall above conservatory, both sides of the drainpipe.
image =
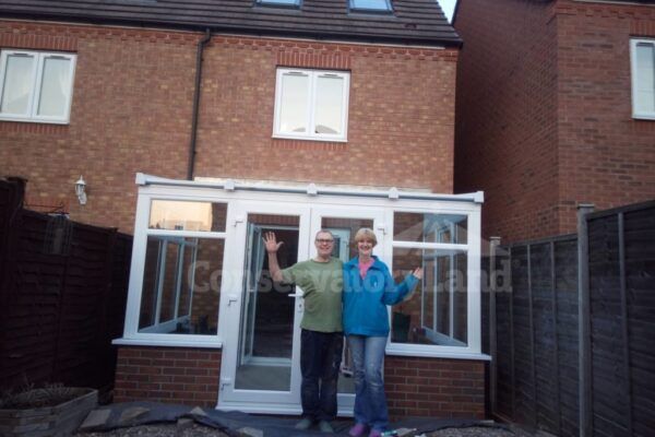
{"type": "MultiPolygon", "coordinates": [[[[201,37],[0,22],[1,48],[78,54],[70,125],[0,121],[0,174],[29,179],[29,203],[66,201],[75,220],[130,232],[136,172],[186,177],[201,37]],[[80,175],[85,206],[73,192],[80,175]]],[[[195,176],[452,192],[457,54],[214,36],[204,55],[195,176]],[[352,72],[347,143],[271,138],[277,66],[352,72]]]]}

